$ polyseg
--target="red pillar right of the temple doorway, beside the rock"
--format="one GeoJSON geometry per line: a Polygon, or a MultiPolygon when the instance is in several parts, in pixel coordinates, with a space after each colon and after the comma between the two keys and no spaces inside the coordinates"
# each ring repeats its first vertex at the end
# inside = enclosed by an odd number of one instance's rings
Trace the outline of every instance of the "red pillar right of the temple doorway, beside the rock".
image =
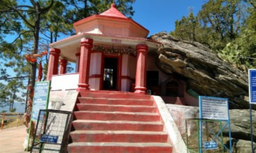
{"type": "Polygon", "coordinates": [[[147,50],[146,44],[138,44],[137,50],[137,67],[136,67],[136,80],[135,92],[138,94],[146,93],[146,68],[147,68],[147,50]]]}

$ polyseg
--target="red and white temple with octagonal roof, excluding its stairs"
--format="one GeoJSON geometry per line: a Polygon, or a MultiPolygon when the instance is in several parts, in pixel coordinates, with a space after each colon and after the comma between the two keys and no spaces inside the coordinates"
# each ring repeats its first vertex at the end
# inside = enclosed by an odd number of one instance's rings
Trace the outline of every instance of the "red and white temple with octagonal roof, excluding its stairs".
{"type": "Polygon", "coordinates": [[[74,23],[76,35],[50,44],[51,90],[127,91],[161,96],[166,103],[197,105],[185,82],[156,66],[158,42],[115,7],[74,23]],[[76,64],[67,74],[67,63],[76,64]]]}

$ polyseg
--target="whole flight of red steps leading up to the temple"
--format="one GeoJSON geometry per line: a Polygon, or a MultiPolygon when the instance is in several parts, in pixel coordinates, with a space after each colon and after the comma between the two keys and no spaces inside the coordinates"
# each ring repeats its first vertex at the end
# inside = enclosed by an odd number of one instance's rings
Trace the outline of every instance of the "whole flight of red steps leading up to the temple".
{"type": "Polygon", "coordinates": [[[80,93],[68,153],[172,153],[149,95],[80,93]]]}

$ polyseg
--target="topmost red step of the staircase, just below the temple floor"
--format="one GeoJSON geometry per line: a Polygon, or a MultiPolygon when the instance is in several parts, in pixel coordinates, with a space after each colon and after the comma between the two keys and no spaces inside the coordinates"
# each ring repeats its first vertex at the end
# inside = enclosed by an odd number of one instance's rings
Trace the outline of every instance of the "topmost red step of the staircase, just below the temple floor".
{"type": "Polygon", "coordinates": [[[81,97],[91,97],[91,98],[116,98],[116,99],[146,99],[150,100],[150,95],[141,95],[128,92],[120,91],[89,91],[80,92],[81,97]]]}

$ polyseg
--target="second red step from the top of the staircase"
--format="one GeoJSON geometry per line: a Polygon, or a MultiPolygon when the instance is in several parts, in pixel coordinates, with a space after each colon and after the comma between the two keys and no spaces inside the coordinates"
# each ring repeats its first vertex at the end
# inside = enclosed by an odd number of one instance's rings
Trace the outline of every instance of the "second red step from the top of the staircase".
{"type": "Polygon", "coordinates": [[[139,105],[153,106],[153,101],[145,99],[110,99],[110,98],[85,98],[79,97],[79,103],[101,104],[101,105],[139,105]]]}

